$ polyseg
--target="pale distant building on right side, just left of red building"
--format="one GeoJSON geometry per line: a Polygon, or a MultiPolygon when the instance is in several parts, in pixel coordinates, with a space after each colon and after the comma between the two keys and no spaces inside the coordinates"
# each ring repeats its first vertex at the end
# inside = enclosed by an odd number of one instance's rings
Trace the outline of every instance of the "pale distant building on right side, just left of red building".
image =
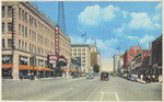
{"type": "Polygon", "coordinates": [[[118,72],[119,69],[119,59],[121,58],[122,55],[114,55],[114,71],[118,72]]]}

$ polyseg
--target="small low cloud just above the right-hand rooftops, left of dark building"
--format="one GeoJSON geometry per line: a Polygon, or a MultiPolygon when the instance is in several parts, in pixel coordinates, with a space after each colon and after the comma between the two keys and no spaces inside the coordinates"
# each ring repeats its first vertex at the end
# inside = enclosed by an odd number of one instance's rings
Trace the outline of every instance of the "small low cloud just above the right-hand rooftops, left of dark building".
{"type": "Polygon", "coordinates": [[[154,38],[154,36],[144,35],[142,38],[140,38],[139,43],[148,48],[149,42],[152,42],[154,38]]]}

